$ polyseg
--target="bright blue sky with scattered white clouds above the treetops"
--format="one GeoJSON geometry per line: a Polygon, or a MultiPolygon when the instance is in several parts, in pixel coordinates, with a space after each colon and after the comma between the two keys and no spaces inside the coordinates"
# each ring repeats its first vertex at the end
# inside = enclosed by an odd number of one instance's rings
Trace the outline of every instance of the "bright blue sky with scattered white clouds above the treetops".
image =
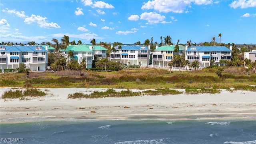
{"type": "MultiPolygon", "coordinates": [[[[1,0],[0,41],[256,44],[256,0],[1,0]]],[[[53,42],[52,42],[53,43],[53,42]]]]}

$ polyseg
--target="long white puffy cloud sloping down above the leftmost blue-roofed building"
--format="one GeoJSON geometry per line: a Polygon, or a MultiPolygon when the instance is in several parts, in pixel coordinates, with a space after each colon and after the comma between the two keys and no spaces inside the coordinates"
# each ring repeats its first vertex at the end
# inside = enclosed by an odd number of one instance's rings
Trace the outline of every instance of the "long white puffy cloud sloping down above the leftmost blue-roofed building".
{"type": "Polygon", "coordinates": [[[38,24],[41,28],[60,28],[60,26],[57,23],[47,23],[46,17],[42,16],[36,16],[32,14],[30,17],[25,18],[24,22],[25,24],[38,24]]]}

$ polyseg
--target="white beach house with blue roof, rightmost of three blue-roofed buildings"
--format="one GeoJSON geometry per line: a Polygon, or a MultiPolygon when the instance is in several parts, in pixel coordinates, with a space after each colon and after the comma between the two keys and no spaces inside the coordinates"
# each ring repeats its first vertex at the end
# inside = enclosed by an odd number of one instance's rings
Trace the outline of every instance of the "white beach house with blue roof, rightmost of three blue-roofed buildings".
{"type": "Polygon", "coordinates": [[[232,45],[229,48],[226,46],[185,46],[186,57],[185,59],[190,64],[197,60],[200,68],[210,66],[210,60],[214,60],[215,65],[220,65],[220,60],[231,60],[232,57],[232,45]]]}

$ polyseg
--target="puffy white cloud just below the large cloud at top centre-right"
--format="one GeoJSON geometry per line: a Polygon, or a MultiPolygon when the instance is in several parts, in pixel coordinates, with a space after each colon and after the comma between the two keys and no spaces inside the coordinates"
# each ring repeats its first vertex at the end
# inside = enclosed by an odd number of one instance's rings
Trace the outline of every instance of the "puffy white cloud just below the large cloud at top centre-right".
{"type": "Polygon", "coordinates": [[[165,16],[161,16],[156,12],[144,12],[140,15],[140,19],[147,20],[149,24],[157,24],[164,21],[165,16]]]}

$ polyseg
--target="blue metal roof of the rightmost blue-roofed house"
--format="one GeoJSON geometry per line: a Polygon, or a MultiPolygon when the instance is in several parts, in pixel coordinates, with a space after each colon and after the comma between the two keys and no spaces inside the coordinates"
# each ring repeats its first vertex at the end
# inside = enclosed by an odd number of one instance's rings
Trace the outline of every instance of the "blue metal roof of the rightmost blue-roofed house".
{"type": "Polygon", "coordinates": [[[190,46],[187,52],[232,52],[226,46],[190,46]]]}

